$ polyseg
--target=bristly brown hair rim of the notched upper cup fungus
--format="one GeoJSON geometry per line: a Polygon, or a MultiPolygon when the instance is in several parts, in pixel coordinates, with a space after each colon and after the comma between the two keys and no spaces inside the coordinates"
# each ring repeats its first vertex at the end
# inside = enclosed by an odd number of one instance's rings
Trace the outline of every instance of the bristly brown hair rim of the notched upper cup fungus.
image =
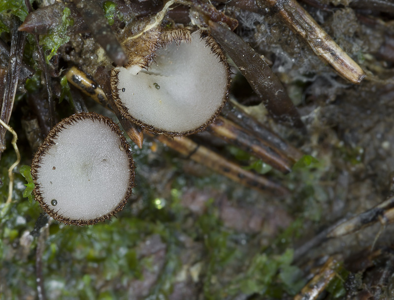
{"type": "MultiPolygon", "coordinates": [[[[155,39],[152,41],[152,47],[146,47],[154,51],[153,53],[150,53],[148,56],[146,56],[142,61],[145,64],[143,66],[144,69],[148,70],[149,65],[154,61],[154,58],[156,56],[156,51],[159,50],[160,48],[165,48],[166,45],[168,45],[171,42],[175,42],[176,44],[179,44],[181,41],[185,41],[186,43],[191,42],[191,31],[187,29],[172,29],[172,30],[164,30],[162,28],[157,29],[158,32],[161,32],[159,35],[158,39],[155,39]]],[[[118,84],[119,84],[119,79],[118,79],[118,73],[119,70],[113,68],[111,70],[111,90],[112,90],[112,97],[114,99],[115,105],[118,107],[119,111],[125,117],[126,119],[130,120],[131,122],[141,126],[147,131],[156,133],[156,134],[163,134],[165,136],[169,137],[175,137],[175,136],[187,136],[196,132],[199,132],[201,130],[204,130],[209,124],[211,124],[213,121],[215,121],[216,117],[220,114],[222,111],[224,105],[227,102],[229,91],[230,91],[230,84],[231,84],[231,73],[230,73],[230,66],[227,62],[226,56],[223,53],[223,50],[221,46],[215,41],[215,39],[212,37],[212,35],[207,31],[207,30],[201,30],[200,31],[200,38],[205,40],[206,46],[208,46],[211,49],[211,52],[213,55],[219,58],[219,62],[223,63],[226,66],[226,71],[227,71],[227,86],[226,86],[226,91],[222,99],[222,104],[221,106],[215,111],[214,114],[212,114],[212,117],[210,120],[206,121],[203,125],[200,127],[190,130],[190,131],[184,131],[184,132],[168,132],[160,128],[156,128],[152,125],[146,124],[141,120],[133,118],[129,114],[128,108],[125,106],[125,104],[122,102],[119,96],[119,89],[118,84]]],[[[144,42],[146,42],[144,40],[144,42]]],[[[129,51],[129,53],[132,55],[134,51],[129,51]]],[[[128,68],[132,65],[132,63],[129,63],[125,65],[125,68],[128,68]]]]}

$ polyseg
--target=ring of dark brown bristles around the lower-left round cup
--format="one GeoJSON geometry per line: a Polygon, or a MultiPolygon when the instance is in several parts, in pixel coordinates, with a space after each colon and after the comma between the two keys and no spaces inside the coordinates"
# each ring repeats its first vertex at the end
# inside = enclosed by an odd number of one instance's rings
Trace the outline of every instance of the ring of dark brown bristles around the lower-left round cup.
{"type": "Polygon", "coordinates": [[[102,115],[99,115],[97,113],[80,113],[80,114],[75,114],[70,117],[67,117],[63,120],[61,120],[59,123],[57,123],[52,129],[49,131],[48,135],[46,136],[44,142],[41,144],[41,146],[38,148],[37,152],[35,153],[33,157],[33,162],[32,162],[32,177],[33,181],[35,184],[35,187],[33,189],[33,193],[35,196],[35,200],[38,201],[42,209],[48,213],[52,218],[55,220],[58,220],[60,222],[65,223],[66,225],[93,225],[96,224],[100,221],[104,221],[106,219],[110,219],[115,213],[119,212],[122,210],[126,203],[127,199],[131,195],[131,189],[134,186],[134,161],[132,159],[131,151],[129,149],[129,144],[126,141],[126,138],[123,136],[122,131],[120,130],[119,126],[114,123],[111,119],[104,117],[102,115]],[[90,220],[72,220],[69,218],[64,217],[61,214],[58,214],[58,211],[52,209],[49,205],[47,205],[44,201],[44,197],[42,196],[42,190],[41,190],[41,185],[37,183],[38,179],[38,169],[41,167],[41,162],[42,159],[41,157],[44,156],[45,154],[48,153],[48,150],[50,150],[53,145],[55,145],[55,141],[58,138],[58,134],[62,132],[64,129],[67,129],[65,125],[73,125],[78,123],[81,120],[86,120],[90,119],[93,122],[99,121],[100,123],[103,122],[106,126],[108,126],[112,132],[115,132],[115,134],[119,137],[121,146],[123,147],[123,150],[126,151],[127,156],[129,158],[129,169],[131,170],[130,172],[130,178],[129,178],[129,186],[127,189],[127,192],[121,202],[119,202],[119,205],[112,210],[108,214],[104,214],[98,218],[95,219],[90,219],[90,220]]]}

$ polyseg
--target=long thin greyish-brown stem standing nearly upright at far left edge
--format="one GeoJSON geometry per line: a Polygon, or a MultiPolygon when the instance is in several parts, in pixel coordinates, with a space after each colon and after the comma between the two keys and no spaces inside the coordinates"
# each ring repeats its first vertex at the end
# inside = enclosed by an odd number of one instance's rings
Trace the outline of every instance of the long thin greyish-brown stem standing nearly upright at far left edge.
{"type": "MultiPolygon", "coordinates": [[[[14,105],[16,88],[18,86],[19,75],[21,71],[23,50],[26,44],[26,32],[19,32],[18,26],[20,25],[19,19],[13,19],[13,28],[11,29],[11,49],[8,61],[7,76],[4,82],[4,96],[1,106],[0,119],[8,124],[11,117],[12,107],[14,105]]],[[[0,152],[5,150],[5,131],[6,128],[2,127],[0,130],[0,152]]]]}

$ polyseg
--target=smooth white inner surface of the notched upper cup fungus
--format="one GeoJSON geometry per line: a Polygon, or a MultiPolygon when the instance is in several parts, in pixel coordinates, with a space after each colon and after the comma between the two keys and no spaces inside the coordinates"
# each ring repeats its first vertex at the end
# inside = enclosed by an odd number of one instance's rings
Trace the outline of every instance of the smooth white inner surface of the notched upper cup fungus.
{"type": "Polygon", "coordinates": [[[118,68],[119,98],[129,114],[167,132],[196,130],[222,106],[227,66],[192,33],[192,41],[171,42],[155,54],[148,67],[118,68]]]}

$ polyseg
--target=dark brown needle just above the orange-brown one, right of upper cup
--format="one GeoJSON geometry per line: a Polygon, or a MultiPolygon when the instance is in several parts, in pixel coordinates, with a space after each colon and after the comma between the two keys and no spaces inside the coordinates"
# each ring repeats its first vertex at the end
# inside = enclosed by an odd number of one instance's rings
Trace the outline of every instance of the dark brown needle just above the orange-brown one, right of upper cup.
{"type": "Polygon", "coordinates": [[[271,132],[259,120],[248,115],[242,106],[239,105],[234,99],[231,99],[231,97],[230,102],[236,107],[236,111],[233,112],[225,106],[222,113],[226,115],[226,119],[231,120],[234,123],[242,124],[242,127],[246,128],[250,132],[253,132],[254,135],[265,141],[265,143],[283,151],[291,160],[293,160],[293,162],[298,161],[302,157],[303,153],[300,150],[290,145],[287,141],[283,140],[275,133],[271,132]]]}

